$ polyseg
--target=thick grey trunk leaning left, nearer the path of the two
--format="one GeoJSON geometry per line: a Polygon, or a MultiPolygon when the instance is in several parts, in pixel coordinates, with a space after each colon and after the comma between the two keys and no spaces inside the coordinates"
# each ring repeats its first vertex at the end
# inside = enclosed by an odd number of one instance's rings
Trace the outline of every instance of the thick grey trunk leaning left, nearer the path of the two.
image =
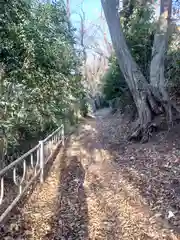
{"type": "Polygon", "coordinates": [[[148,82],[144,78],[127,47],[116,8],[118,6],[118,1],[101,0],[101,2],[120,69],[137,107],[139,125],[141,128],[137,128],[137,131],[134,132],[133,136],[135,137],[139,135],[140,132],[143,134],[143,132],[146,131],[151,124],[153,112],[157,112],[158,106],[153,99],[148,82]]]}

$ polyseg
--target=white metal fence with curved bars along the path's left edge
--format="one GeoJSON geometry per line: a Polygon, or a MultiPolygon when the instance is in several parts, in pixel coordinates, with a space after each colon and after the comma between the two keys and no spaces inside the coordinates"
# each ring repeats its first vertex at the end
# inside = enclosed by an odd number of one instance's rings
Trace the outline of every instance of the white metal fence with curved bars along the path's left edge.
{"type": "Polygon", "coordinates": [[[53,154],[53,148],[64,145],[64,125],[0,171],[0,223],[19,202],[23,194],[38,178],[44,181],[44,169],[53,154]],[[9,202],[6,186],[11,183],[14,197],[9,202]]]}

